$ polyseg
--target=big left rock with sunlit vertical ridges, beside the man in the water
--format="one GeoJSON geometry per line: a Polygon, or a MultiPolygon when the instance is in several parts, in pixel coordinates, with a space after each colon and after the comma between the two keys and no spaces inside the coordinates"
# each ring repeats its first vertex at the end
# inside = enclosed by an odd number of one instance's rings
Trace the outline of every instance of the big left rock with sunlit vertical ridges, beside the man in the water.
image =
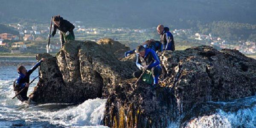
{"type": "Polygon", "coordinates": [[[69,41],[41,65],[41,77],[30,98],[35,102],[84,102],[97,97],[106,98],[114,85],[130,79],[136,70],[132,62],[119,61],[115,55],[92,41],[69,41]],[[58,82],[52,74],[58,74],[58,82]],[[44,77],[45,76],[45,77],[44,77]]]}

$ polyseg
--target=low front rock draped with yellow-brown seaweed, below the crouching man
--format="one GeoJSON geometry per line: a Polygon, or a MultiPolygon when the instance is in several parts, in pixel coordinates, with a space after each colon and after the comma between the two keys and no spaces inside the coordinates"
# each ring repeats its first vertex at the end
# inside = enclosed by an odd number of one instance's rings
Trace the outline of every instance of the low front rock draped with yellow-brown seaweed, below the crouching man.
{"type": "Polygon", "coordinates": [[[177,114],[170,88],[153,88],[137,79],[122,81],[108,97],[104,124],[113,128],[164,128],[177,114]],[[175,114],[175,115],[174,115],[175,114]]]}

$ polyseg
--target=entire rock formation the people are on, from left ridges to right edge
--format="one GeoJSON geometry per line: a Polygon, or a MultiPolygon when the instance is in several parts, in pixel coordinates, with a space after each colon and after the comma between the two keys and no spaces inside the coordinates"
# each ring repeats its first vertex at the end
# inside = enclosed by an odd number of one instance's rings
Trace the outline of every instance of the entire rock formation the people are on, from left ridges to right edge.
{"type": "Polygon", "coordinates": [[[38,60],[49,60],[40,66],[41,78],[30,98],[41,103],[108,98],[104,125],[162,128],[196,104],[256,92],[256,60],[237,50],[201,46],[159,53],[164,77],[153,88],[143,81],[135,87],[136,55],[119,61],[111,47],[69,41],[56,57],[39,54],[38,60]]]}

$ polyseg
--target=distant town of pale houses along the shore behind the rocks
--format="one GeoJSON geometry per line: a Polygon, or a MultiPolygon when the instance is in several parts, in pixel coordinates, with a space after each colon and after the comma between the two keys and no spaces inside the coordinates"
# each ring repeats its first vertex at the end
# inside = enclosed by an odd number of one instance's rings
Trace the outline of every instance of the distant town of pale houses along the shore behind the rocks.
{"type": "MultiPolygon", "coordinates": [[[[72,22],[76,28],[74,33],[76,40],[98,41],[100,38],[112,38],[131,48],[142,44],[148,39],[159,40],[156,28],[131,29],[131,28],[105,28],[87,27],[81,21],[72,22]]],[[[49,24],[47,23],[9,23],[6,24],[19,32],[18,35],[0,33],[0,53],[20,54],[46,52],[47,35],[49,24]]],[[[193,45],[211,45],[220,49],[237,49],[240,52],[250,55],[256,53],[256,42],[253,41],[231,41],[221,36],[214,36],[211,33],[203,35],[192,29],[171,29],[175,38],[175,46],[183,45],[186,48],[193,45]],[[183,44],[186,42],[189,45],[183,44]]],[[[60,49],[58,34],[51,39],[50,52],[55,53],[60,49]]],[[[181,48],[181,49],[182,49],[181,48]]]]}

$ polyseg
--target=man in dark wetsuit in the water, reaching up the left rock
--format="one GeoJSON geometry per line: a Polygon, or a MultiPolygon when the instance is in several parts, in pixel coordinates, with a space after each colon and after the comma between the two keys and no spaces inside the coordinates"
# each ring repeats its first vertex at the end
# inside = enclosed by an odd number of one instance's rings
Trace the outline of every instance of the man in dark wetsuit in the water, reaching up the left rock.
{"type": "Polygon", "coordinates": [[[26,70],[26,68],[23,65],[20,65],[17,68],[17,72],[19,74],[19,77],[15,79],[14,84],[14,91],[17,94],[22,90],[24,87],[26,87],[19,95],[17,95],[17,99],[19,99],[21,102],[27,101],[29,98],[27,97],[27,92],[29,89],[29,76],[33,73],[35,69],[38,68],[38,66],[43,62],[46,61],[47,58],[42,58],[38,63],[36,63],[31,69],[26,70]]]}

